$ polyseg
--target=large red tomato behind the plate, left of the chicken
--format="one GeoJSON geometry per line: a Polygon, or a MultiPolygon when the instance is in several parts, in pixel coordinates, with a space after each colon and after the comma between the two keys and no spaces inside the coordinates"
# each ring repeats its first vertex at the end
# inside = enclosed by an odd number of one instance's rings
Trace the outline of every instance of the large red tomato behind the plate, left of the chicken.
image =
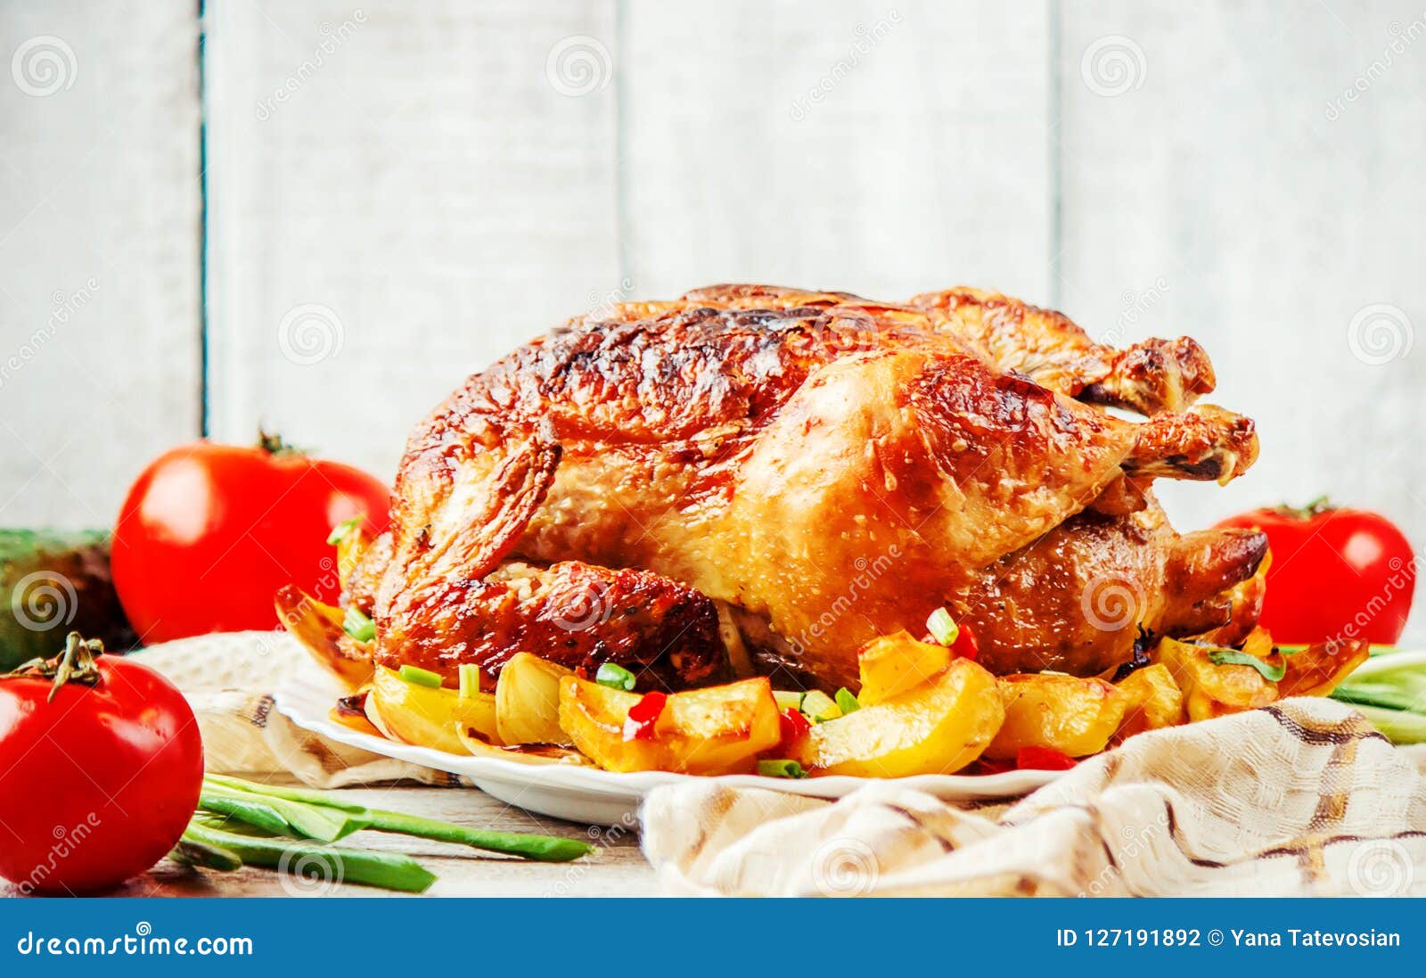
{"type": "Polygon", "coordinates": [[[114,587],[145,643],[277,626],[272,594],[297,585],[337,603],[327,536],[364,518],[386,526],[381,480],[264,436],[258,448],[195,442],[130,488],[114,529],[114,587]]]}

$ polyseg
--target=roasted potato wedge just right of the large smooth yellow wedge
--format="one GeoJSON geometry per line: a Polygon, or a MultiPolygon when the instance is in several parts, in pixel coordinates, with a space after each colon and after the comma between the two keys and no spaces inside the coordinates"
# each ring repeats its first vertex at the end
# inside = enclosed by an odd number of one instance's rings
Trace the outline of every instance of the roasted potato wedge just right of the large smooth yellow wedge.
{"type": "Polygon", "coordinates": [[[1070,757],[1097,754],[1134,701],[1102,679],[1030,673],[998,681],[1005,723],[985,748],[987,757],[1014,757],[1021,747],[1050,747],[1070,757]]]}

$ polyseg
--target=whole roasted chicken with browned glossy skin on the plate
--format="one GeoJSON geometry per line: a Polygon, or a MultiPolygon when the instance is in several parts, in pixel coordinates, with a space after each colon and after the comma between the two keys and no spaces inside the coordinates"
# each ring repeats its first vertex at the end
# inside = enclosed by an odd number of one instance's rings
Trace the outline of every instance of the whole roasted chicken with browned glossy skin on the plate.
{"type": "Polygon", "coordinates": [[[1098,674],[1256,620],[1265,537],[1181,536],[1151,489],[1252,465],[1249,419],[1192,406],[1212,388],[1192,339],[1112,349],[968,288],[615,305],[416,428],[345,600],[379,663],[489,684],[525,650],[642,689],[836,689],[943,606],[992,671],[1098,674]]]}

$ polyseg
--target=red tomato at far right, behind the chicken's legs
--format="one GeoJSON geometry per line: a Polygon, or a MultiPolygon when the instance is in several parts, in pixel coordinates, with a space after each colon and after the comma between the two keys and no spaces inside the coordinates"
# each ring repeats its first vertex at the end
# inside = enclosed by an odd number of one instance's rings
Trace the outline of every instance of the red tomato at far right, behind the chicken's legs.
{"type": "Polygon", "coordinates": [[[1400,637],[1416,590],[1416,557],[1385,516],[1318,500],[1302,509],[1255,509],[1219,526],[1268,535],[1272,563],[1259,623],[1273,640],[1392,644],[1400,637]]]}

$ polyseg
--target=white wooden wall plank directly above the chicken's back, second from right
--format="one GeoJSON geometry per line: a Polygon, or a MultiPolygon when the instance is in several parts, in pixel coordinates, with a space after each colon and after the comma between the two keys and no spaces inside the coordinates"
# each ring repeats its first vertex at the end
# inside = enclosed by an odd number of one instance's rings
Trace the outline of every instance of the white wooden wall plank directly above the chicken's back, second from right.
{"type": "Polygon", "coordinates": [[[633,3],[625,20],[626,272],[640,295],[719,281],[1045,295],[1042,4],[633,3]]]}

